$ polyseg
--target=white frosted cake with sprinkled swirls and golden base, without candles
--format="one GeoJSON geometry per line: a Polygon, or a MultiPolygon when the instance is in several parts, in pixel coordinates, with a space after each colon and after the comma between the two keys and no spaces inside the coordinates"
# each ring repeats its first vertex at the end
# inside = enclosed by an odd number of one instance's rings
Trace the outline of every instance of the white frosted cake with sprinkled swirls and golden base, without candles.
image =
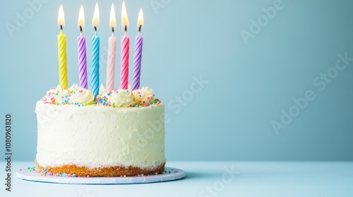
{"type": "Polygon", "coordinates": [[[164,171],[164,103],[152,89],[52,88],[37,101],[37,171],[116,177],[164,171]]]}

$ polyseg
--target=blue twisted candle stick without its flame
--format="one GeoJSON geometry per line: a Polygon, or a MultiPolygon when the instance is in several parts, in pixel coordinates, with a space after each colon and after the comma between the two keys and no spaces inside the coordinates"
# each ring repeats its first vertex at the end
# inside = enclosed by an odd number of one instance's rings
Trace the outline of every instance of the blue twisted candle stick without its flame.
{"type": "Polygon", "coordinates": [[[100,91],[100,37],[97,32],[92,37],[92,94],[97,96],[100,91]]]}

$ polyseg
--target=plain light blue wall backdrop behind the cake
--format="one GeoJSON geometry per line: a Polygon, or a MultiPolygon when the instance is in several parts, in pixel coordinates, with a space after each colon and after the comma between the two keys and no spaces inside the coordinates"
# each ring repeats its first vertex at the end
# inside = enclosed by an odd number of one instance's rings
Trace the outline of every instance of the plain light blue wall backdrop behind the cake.
{"type": "MultiPolygon", "coordinates": [[[[11,113],[16,160],[35,159],[35,103],[59,83],[60,4],[66,20],[68,84],[78,83],[76,38],[81,4],[90,73],[96,1],[40,2],[37,11],[27,1],[6,1],[0,8],[0,150],[4,153],[4,115],[11,113]],[[16,13],[27,17],[21,27],[16,25],[16,13]],[[18,30],[8,31],[6,24],[18,30]]],[[[321,85],[313,84],[321,73],[330,70],[335,74],[337,54],[353,57],[353,1],[283,0],[282,9],[272,19],[265,17],[262,8],[273,7],[275,2],[126,0],[131,63],[138,10],[144,11],[141,85],[151,87],[167,104],[167,160],[353,160],[353,61],[330,83],[325,82],[322,91],[321,85]],[[154,8],[156,2],[159,7],[154,8]],[[251,20],[259,18],[261,30],[244,39],[240,31],[251,33],[251,20]],[[208,83],[196,92],[194,79],[201,76],[208,83]],[[315,99],[276,133],[271,122],[282,124],[282,110],[295,110],[293,99],[306,91],[312,91],[315,99]]],[[[100,78],[105,84],[112,1],[98,3],[100,78]]],[[[121,4],[121,0],[114,1],[118,38],[123,34],[121,4]]],[[[120,39],[116,87],[119,43],[120,39]]]]}

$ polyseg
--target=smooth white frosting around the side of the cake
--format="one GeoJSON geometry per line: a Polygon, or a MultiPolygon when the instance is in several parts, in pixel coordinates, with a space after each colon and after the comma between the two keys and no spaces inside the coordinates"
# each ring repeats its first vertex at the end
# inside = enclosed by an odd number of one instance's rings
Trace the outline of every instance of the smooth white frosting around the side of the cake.
{"type": "MultiPolygon", "coordinates": [[[[123,96],[124,97],[124,96],[123,96]]],[[[36,104],[42,167],[89,168],[165,163],[164,104],[141,108],[36,104]]]]}

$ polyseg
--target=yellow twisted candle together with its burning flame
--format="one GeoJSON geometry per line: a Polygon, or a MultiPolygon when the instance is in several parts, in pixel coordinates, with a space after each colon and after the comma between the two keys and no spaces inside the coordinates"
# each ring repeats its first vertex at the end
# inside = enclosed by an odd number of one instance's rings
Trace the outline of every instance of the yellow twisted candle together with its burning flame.
{"type": "Polygon", "coordinates": [[[63,32],[65,26],[64,9],[60,5],[58,15],[58,25],[60,26],[60,34],[58,34],[58,58],[59,58],[59,85],[63,89],[67,89],[67,68],[66,68],[66,35],[63,32]]]}

